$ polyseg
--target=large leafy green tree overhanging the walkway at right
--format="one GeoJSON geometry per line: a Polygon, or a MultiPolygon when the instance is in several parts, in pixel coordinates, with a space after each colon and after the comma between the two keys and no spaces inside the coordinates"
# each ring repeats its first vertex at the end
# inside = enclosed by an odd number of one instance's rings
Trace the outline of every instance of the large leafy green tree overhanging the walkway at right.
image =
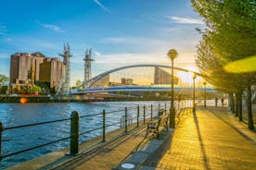
{"type": "Polygon", "coordinates": [[[205,19],[207,29],[198,45],[197,64],[200,71],[216,87],[236,93],[237,109],[241,120],[242,98],[248,91],[249,128],[253,128],[250,85],[256,74],[232,74],[224,66],[237,59],[256,55],[256,1],[255,0],[191,0],[192,6],[205,19]]]}

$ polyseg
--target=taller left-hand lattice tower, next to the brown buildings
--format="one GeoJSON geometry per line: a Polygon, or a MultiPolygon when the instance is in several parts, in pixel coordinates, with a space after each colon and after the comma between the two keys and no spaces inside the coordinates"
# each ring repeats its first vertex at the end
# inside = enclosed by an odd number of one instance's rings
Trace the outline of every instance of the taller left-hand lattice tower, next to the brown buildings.
{"type": "Polygon", "coordinates": [[[70,94],[70,45],[67,43],[67,46],[64,44],[64,54],[60,55],[63,57],[63,71],[61,83],[59,83],[59,88],[57,93],[64,95],[70,94]]]}

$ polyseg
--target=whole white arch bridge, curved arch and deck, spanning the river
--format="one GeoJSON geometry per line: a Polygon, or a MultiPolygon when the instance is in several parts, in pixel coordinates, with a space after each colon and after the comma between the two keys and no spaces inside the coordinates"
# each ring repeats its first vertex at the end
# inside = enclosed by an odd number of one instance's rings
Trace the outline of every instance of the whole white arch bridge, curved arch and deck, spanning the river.
{"type": "MultiPolygon", "coordinates": [[[[133,65],[133,66],[126,66],[126,67],[118,67],[106,71],[97,75],[96,77],[89,79],[83,82],[82,85],[78,86],[76,89],[70,91],[70,94],[83,94],[83,93],[95,93],[95,92],[110,92],[110,91],[171,91],[171,85],[122,85],[122,86],[109,86],[109,87],[94,87],[97,81],[100,79],[108,76],[111,73],[116,73],[118,71],[127,69],[127,68],[136,68],[136,67],[160,67],[160,68],[172,68],[170,66],[165,65],[133,65]]],[[[199,77],[203,77],[198,72],[188,70],[181,67],[173,67],[173,69],[186,72],[186,73],[193,73],[199,77]]],[[[192,89],[192,85],[190,87],[174,87],[175,91],[190,91],[192,89]]],[[[214,91],[212,88],[207,88],[207,91],[214,91]]]]}

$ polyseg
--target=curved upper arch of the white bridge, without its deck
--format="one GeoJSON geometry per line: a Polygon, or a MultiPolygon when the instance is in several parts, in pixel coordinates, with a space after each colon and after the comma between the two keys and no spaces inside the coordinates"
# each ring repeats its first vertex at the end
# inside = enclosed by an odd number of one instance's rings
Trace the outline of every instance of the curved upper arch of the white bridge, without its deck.
{"type": "MultiPolygon", "coordinates": [[[[118,68],[110,69],[109,71],[101,73],[101,74],[97,75],[96,77],[83,82],[82,85],[78,86],[73,91],[80,91],[80,89],[82,89],[82,88],[90,88],[92,85],[94,85],[94,83],[98,79],[101,79],[101,78],[109,75],[110,73],[113,73],[113,72],[116,72],[116,71],[120,71],[122,69],[132,68],[132,67],[165,67],[165,68],[172,68],[171,66],[166,66],[166,65],[131,65],[131,66],[126,66],[126,67],[118,67],[118,68]]],[[[198,75],[200,77],[203,77],[203,75],[201,75],[200,73],[192,71],[192,70],[188,70],[188,69],[185,69],[185,68],[173,67],[173,69],[180,70],[180,71],[185,71],[185,72],[192,72],[192,73],[194,73],[194,74],[196,74],[196,75],[198,75]]]]}

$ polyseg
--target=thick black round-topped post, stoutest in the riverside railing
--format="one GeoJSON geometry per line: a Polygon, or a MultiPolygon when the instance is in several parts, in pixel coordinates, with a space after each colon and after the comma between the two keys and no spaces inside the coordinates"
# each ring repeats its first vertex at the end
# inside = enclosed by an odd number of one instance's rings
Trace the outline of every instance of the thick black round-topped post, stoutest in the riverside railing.
{"type": "Polygon", "coordinates": [[[70,116],[70,155],[78,153],[79,145],[79,113],[73,111],[70,116]]]}

